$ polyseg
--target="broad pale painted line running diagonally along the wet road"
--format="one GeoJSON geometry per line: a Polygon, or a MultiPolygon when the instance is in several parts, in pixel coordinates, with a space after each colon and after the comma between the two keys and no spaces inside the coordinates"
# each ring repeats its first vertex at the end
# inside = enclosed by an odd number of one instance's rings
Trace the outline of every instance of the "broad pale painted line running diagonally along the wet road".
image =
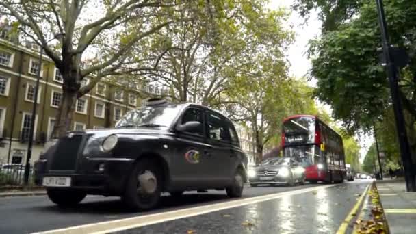
{"type": "Polygon", "coordinates": [[[205,213],[211,213],[215,211],[221,211],[224,209],[231,209],[234,207],[241,207],[244,205],[250,205],[254,203],[261,203],[267,200],[273,200],[281,198],[283,196],[291,196],[296,194],[302,194],[305,192],[312,192],[315,190],[324,190],[328,187],[334,187],[334,185],[323,185],[320,187],[308,187],[300,190],[292,190],[287,192],[279,192],[276,194],[267,194],[263,196],[255,196],[251,198],[241,198],[238,200],[226,201],[223,203],[216,203],[211,205],[203,205],[199,207],[191,207],[185,209],[179,209],[176,211],[166,211],[164,213],[153,213],[146,216],[136,216],[131,218],[124,218],[120,220],[111,220],[105,222],[97,222],[94,224],[83,224],[79,226],[72,226],[64,229],[55,229],[51,231],[42,231],[37,234],[49,234],[49,233],[74,233],[74,234],[102,234],[112,233],[116,231],[122,231],[127,229],[134,229],[141,226],[148,226],[151,224],[157,224],[160,222],[167,222],[170,220],[177,220],[181,218],[187,218],[191,216],[199,216],[205,213]]]}

